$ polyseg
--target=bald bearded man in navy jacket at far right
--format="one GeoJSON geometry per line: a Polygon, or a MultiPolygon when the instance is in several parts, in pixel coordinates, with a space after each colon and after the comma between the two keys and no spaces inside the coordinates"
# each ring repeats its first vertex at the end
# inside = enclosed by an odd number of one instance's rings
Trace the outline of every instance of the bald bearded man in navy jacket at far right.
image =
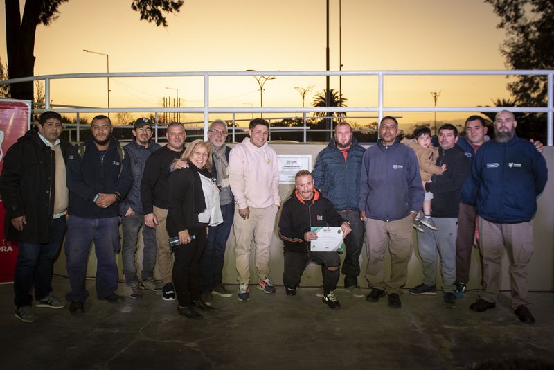
{"type": "Polygon", "coordinates": [[[483,292],[470,306],[483,312],[496,306],[504,249],[510,256],[512,309],[520,321],[535,322],[528,309],[526,267],[533,254],[537,196],[548,179],[544,157],[533,143],[515,134],[514,114],[503,110],[494,120],[496,138],[476,154],[472,175],[477,186],[476,209],[483,255],[483,292]]]}

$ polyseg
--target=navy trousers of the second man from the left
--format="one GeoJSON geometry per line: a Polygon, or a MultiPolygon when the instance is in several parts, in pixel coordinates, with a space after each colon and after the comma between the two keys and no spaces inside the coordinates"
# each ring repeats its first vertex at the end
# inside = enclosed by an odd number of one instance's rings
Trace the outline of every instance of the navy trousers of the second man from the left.
{"type": "Polygon", "coordinates": [[[87,259],[94,241],[96,252],[96,294],[107,297],[118,287],[116,254],[119,252],[119,220],[110,218],[80,218],[74,215],[67,220],[65,254],[71,292],[66,301],[84,302],[89,297],[85,279],[87,259]]]}

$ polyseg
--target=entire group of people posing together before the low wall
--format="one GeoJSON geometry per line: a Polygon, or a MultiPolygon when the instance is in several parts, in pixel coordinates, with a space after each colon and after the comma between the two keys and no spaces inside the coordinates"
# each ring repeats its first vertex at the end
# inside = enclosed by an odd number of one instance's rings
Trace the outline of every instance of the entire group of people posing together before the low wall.
{"type": "MultiPolygon", "coordinates": [[[[542,144],[519,139],[516,125],[511,112],[499,112],[495,138],[487,140],[483,118],[470,116],[465,138],[458,136],[454,125],[442,125],[438,148],[433,149],[428,129],[416,130],[413,142],[400,143],[396,118],[386,116],[379,124],[379,141],[365,149],[348,123],[337,123],[313,172],[296,174],[294,191],[280,211],[277,231],[284,243],[285,293],[296,295],[303,270],[313,262],[321,265],[323,275],[316,296],[329,308],[341,308],[334,294],[340,273],[346,292],[354,297],[369,302],[387,297],[388,306],[402,307],[415,227],[420,231],[424,279],[409,290],[411,294],[437,294],[440,258],[444,306],[454,308],[465,292],[470,254],[479,235],[483,292],[470,308],[476,312],[494,308],[500,262],[507,249],[512,308],[521,321],[533,322],[526,288],[526,265],[533,252],[530,221],[546,185],[547,169],[542,144]],[[311,247],[317,238],[312,227],[327,226],[343,232],[342,266],[337,252],[311,247]],[[371,289],[367,295],[358,281],[364,234],[365,278],[371,289]],[[386,249],[391,254],[387,278],[386,249]]],[[[152,122],[147,118],[136,120],[134,139],[124,147],[111,135],[111,128],[109,117],[96,116],[89,138],[72,147],[60,139],[60,114],[44,112],[37,130],[28,131],[6,153],[0,191],[7,235],[19,246],[15,317],[25,322],[38,319],[32,308],[33,286],[35,306],[65,306],[51,287],[53,261],[65,229],[69,311],[84,312],[91,242],[98,261],[96,297],[122,301],[116,293],[119,222],[130,299],[140,299],[145,290],[161,292],[167,301],[177,297],[179,315],[201,319],[197,310],[213,310],[213,294],[232,297],[222,284],[231,226],[239,301],[250,299],[251,245],[255,245],[256,288],[276,292],[269,279],[269,254],[281,200],[267,121],[253,119],[249,137],[232,150],[226,145],[227,125],[220,120],[208,127],[208,141],[195,140],[188,147],[180,123],[168,125],[168,143],[162,147],[152,142],[152,122]],[[141,229],[139,279],[136,249],[141,229]],[[159,281],[154,279],[154,265],[159,281]]]]}

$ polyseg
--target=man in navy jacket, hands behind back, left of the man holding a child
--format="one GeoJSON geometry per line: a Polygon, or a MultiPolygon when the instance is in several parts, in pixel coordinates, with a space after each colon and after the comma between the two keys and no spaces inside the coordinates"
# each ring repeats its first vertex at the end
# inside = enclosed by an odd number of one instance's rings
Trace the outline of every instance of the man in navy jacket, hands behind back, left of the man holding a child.
{"type": "Polygon", "coordinates": [[[381,139],[364,153],[359,191],[360,218],[366,222],[366,279],[372,289],[366,301],[377,302],[386,292],[391,308],[402,307],[400,294],[412,252],[412,224],[424,197],[418,158],[411,148],[396,140],[397,132],[396,118],[386,116],[381,120],[381,139]],[[385,283],[387,245],[391,278],[385,283]]]}

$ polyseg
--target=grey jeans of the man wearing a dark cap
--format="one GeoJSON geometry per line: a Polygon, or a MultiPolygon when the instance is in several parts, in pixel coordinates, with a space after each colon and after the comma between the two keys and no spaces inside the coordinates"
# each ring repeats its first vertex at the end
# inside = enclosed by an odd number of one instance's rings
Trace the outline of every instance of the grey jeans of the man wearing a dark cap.
{"type": "Polygon", "coordinates": [[[153,277],[154,265],[156,264],[156,229],[144,224],[144,215],[135,213],[121,218],[123,229],[123,248],[121,257],[123,259],[123,274],[128,285],[139,282],[136,277],[136,264],[134,256],[136,252],[136,242],[139,239],[139,229],[143,228],[143,271],[141,279],[144,281],[153,277]]]}

